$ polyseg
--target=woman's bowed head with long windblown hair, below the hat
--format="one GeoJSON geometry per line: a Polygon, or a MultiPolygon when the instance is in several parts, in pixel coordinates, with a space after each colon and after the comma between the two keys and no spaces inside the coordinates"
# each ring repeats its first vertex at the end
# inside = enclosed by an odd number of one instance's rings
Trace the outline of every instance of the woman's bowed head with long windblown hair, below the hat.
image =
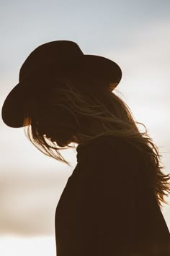
{"type": "Polygon", "coordinates": [[[30,125],[25,128],[27,137],[42,153],[70,166],[60,150],[75,148],[71,142],[86,145],[102,135],[120,137],[146,155],[158,205],[168,204],[164,196],[170,194],[170,176],[161,171],[164,166],[158,147],[146,126],[135,121],[127,104],[109,89],[108,82],[80,74],[55,79],[48,88],[44,95],[40,91],[38,100],[32,99],[27,115],[30,125]],[[145,132],[140,132],[137,124],[143,125],[145,132]]]}

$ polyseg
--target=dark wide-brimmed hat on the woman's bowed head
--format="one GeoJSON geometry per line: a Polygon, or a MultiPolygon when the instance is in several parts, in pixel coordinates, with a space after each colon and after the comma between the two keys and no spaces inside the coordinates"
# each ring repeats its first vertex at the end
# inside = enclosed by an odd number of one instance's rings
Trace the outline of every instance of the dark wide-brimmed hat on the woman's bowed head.
{"type": "MultiPolygon", "coordinates": [[[[2,107],[2,119],[9,127],[24,127],[27,105],[42,80],[57,77],[60,72],[91,74],[106,80],[114,90],[122,77],[120,67],[110,59],[84,54],[78,44],[70,40],[44,43],[27,57],[19,71],[19,83],[7,95],[2,107]],[[36,87],[36,88],[35,88],[36,87]]],[[[50,82],[45,90],[50,87],[50,82]]],[[[97,89],[97,88],[96,88],[97,89]]],[[[89,88],[90,90],[90,88],[89,88]]]]}

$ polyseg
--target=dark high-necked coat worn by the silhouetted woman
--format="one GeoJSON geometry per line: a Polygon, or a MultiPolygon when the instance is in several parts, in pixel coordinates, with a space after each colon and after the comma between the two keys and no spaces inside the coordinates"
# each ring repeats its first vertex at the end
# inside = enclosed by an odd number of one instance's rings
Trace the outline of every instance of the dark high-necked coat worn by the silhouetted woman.
{"type": "Polygon", "coordinates": [[[169,256],[169,229],[143,154],[111,136],[76,150],[55,212],[57,256],[169,256]]]}

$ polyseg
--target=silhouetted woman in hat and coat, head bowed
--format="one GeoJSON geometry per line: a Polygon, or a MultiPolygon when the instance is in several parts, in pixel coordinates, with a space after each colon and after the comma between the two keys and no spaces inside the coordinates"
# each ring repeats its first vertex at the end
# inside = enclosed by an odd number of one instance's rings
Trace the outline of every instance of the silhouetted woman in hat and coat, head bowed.
{"type": "Polygon", "coordinates": [[[161,213],[170,178],[113,92],[121,77],[114,61],[56,40],[32,51],[4,101],[4,122],[27,128],[43,153],[69,165],[60,150],[78,145],[55,212],[58,256],[170,255],[161,213]]]}

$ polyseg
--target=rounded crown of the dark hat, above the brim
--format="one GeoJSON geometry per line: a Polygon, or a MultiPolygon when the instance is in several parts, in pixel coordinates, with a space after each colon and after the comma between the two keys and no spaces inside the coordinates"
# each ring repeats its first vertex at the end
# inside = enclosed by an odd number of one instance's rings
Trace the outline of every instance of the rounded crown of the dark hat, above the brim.
{"type": "Polygon", "coordinates": [[[30,73],[43,67],[63,67],[84,55],[78,44],[70,40],[55,40],[35,48],[22,64],[19,82],[29,77],[30,73]]]}

